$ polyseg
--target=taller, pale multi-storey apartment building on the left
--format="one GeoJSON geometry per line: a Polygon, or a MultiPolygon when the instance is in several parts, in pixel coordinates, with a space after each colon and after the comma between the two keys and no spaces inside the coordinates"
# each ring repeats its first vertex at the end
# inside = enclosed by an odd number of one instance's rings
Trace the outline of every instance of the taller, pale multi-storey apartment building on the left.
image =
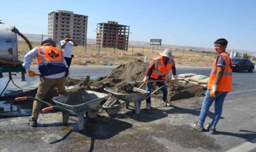
{"type": "Polygon", "coordinates": [[[58,10],[48,14],[48,36],[55,41],[64,39],[69,33],[71,38],[78,45],[87,44],[87,24],[88,16],[74,14],[66,10],[58,10]]]}

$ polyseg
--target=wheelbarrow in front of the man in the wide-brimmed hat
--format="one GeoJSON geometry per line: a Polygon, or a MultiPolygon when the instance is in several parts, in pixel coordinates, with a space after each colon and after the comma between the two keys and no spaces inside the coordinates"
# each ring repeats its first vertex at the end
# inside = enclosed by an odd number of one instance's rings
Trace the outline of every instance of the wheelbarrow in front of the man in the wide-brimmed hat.
{"type": "Polygon", "coordinates": [[[123,104],[125,104],[126,109],[128,109],[129,104],[131,102],[134,102],[135,113],[140,114],[141,102],[143,100],[146,100],[146,98],[151,97],[152,94],[154,94],[163,87],[162,86],[151,93],[149,91],[141,89],[141,86],[139,88],[133,87],[133,91],[138,92],[135,94],[121,94],[119,92],[116,92],[115,88],[104,88],[104,90],[112,94],[112,96],[108,98],[107,102],[105,102],[104,105],[102,105],[102,107],[105,108],[105,111],[109,115],[114,115],[120,111],[121,106],[123,104]],[[119,100],[123,102],[121,103],[119,100]]]}

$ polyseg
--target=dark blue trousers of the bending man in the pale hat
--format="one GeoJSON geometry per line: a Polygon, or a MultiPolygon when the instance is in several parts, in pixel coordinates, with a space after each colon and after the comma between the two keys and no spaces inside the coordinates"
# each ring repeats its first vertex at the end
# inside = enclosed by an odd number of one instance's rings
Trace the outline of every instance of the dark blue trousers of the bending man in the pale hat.
{"type": "MultiPolygon", "coordinates": [[[[167,100],[168,91],[167,91],[165,82],[148,82],[148,83],[146,83],[146,91],[151,92],[153,83],[157,83],[157,86],[159,88],[161,86],[164,86],[163,88],[160,89],[163,92],[162,100],[163,101],[167,100]]],[[[151,97],[146,98],[146,103],[151,103],[151,97]]]]}

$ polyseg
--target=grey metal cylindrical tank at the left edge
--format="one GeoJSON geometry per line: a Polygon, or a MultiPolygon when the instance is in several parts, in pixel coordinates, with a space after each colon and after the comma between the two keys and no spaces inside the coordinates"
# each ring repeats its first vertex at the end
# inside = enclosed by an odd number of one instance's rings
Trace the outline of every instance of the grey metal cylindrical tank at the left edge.
{"type": "Polygon", "coordinates": [[[0,24],[0,60],[18,62],[18,44],[14,26],[0,24]]]}

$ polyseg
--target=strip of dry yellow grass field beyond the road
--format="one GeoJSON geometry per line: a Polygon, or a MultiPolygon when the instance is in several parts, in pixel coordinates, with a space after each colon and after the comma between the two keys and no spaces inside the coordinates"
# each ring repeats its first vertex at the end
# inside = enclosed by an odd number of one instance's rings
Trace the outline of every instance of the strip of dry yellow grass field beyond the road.
{"type": "MultiPolygon", "coordinates": [[[[40,46],[40,42],[31,42],[32,47],[40,46]]],[[[60,49],[60,45],[57,44],[60,49]]],[[[24,55],[29,52],[29,46],[24,41],[18,41],[18,55],[23,60],[24,55]]],[[[146,60],[150,62],[152,58],[158,57],[159,52],[163,50],[154,50],[150,48],[129,47],[128,51],[114,48],[98,48],[95,46],[77,46],[73,47],[75,57],[71,64],[77,65],[113,65],[126,64],[132,60],[146,60]]],[[[202,54],[198,52],[183,52],[183,50],[174,50],[177,66],[212,66],[215,54],[202,54]]]]}

